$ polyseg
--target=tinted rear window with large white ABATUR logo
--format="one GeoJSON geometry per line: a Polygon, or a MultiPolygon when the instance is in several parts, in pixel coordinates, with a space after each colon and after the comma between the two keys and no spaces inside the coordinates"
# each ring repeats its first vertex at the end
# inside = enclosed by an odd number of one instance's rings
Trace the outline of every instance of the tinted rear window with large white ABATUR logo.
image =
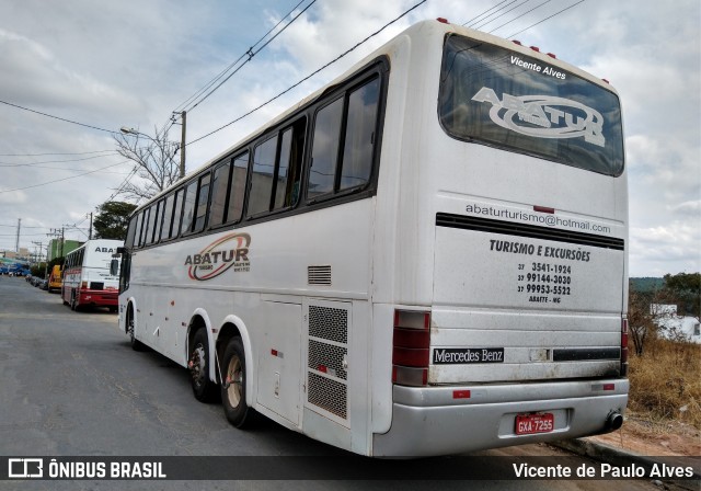
{"type": "Polygon", "coordinates": [[[606,175],[623,172],[618,96],[516,52],[448,35],[438,112],[446,133],[461,140],[606,175]]]}

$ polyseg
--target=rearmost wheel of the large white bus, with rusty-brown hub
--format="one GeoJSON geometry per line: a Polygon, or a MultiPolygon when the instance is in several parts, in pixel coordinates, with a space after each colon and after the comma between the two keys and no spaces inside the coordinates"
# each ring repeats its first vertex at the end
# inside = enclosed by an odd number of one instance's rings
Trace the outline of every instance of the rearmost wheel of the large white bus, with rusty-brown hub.
{"type": "Polygon", "coordinates": [[[221,404],[227,420],[238,429],[251,427],[256,420],[255,410],[245,403],[245,352],[241,338],[232,338],[221,361],[221,404]]]}

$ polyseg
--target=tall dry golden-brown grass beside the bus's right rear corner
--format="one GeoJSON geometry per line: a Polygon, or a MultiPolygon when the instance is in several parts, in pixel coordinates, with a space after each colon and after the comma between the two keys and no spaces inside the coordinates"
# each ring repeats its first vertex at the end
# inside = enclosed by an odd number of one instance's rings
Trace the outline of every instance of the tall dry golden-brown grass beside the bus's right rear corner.
{"type": "Polygon", "coordinates": [[[631,410],[701,429],[701,345],[652,340],[629,362],[631,410]]]}

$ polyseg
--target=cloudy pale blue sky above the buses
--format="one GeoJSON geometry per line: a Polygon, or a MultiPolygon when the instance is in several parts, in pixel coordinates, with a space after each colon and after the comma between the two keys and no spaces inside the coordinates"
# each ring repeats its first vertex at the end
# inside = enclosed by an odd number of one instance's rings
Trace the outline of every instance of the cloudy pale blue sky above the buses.
{"type": "MultiPolygon", "coordinates": [[[[153,136],[187,109],[193,170],[409,25],[436,18],[539,46],[609,80],[623,106],[630,275],[701,270],[698,0],[0,0],[0,251],[15,250],[18,229],[32,252],[61,228],[84,241],[90,213],[127,201],[115,193],[136,179],[134,164],[116,155],[111,132],[153,136]],[[290,12],[299,14],[291,23],[290,12]],[[277,30],[287,28],[258,43],[280,21],[277,30]],[[246,52],[255,56],[191,107],[246,52]]],[[[180,141],[181,126],[168,138],[180,141]]]]}

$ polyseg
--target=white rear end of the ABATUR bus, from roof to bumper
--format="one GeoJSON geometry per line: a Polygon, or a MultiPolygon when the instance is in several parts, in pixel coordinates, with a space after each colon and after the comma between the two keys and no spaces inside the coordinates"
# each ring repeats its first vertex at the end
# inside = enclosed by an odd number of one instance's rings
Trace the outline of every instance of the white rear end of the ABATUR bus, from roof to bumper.
{"type": "Polygon", "coordinates": [[[410,77],[401,98],[390,84],[388,98],[386,134],[397,117],[404,137],[397,207],[377,224],[393,230],[378,233],[391,266],[375,265],[378,290],[377,273],[391,277],[375,320],[392,324],[392,397],[372,453],[616,430],[629,386],[618,95],[554,55],[418,28],[430,41],[412,44],[410,73],[428,75],[410,77]]]}

